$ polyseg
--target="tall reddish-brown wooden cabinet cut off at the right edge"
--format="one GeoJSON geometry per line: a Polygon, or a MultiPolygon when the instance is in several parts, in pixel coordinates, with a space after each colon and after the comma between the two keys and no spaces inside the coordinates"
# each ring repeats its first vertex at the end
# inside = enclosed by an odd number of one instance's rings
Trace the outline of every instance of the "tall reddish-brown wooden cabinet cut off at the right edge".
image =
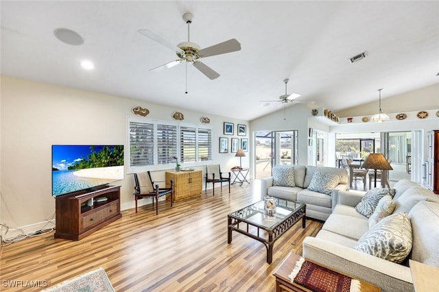
{"type": "Polygon", "coordinates": [[[427,133],[427,187],[439,195],[439,130],[427,133]]]}

